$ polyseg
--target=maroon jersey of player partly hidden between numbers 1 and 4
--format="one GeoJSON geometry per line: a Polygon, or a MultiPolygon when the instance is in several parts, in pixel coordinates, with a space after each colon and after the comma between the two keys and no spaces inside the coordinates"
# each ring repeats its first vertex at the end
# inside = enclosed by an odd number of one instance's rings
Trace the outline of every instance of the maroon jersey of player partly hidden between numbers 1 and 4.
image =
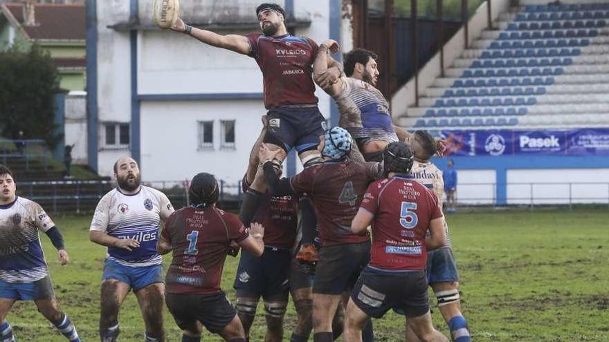
{"type": "MultiPolygon", "coordinates": [[[[242,181],[243,191],[249,184],[246,178],[242,181]]],[[[264,245],[290,249],[296,239],[298,229],[298,198],[296,196],[271,197],[269,191],[264,193],[264,202],[260,205],[253,222],[264,227],[264,245]]]]}

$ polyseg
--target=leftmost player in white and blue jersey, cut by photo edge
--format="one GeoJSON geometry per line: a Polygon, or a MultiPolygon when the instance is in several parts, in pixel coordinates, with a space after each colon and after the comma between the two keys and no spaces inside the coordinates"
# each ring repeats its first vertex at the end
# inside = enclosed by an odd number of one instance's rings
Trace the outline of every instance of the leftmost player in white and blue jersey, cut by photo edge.
{"type": "Polygon", "coordinates": [[[38,232],[44,231],[60,263],[67,265],[64,238],[38,203],[16,196],[15,191],[11,171],[0,165],[0,341],[15,342],[6,321],[15,301],[34,301],[69,341],[80,342],[76,327],[57,303],[38,232]]]}

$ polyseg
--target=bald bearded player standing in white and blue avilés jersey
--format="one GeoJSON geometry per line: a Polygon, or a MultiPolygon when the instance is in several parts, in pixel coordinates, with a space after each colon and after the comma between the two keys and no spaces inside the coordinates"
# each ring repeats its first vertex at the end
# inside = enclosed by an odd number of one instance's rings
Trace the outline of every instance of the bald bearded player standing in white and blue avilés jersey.
{"type": "Polygon", "coordinates": [[[100,336],[118,341],[118,312],[130,290],[146,325],[145,341],[165,341],[163,258],[156,252],[160,221],[174,211],[164,193],[140,185],[138,163],[122,157],[114,164],[118,187],[98,203],[89,239],[108,247],[101,286],[100,336]]]}

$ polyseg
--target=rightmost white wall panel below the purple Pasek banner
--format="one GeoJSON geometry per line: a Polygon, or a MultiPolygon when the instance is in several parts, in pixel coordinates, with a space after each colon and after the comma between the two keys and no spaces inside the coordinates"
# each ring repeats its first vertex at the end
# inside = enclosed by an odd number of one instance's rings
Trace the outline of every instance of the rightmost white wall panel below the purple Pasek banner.
{"type": "Polygon", "coordinates": [[[609,169],[508,170],[507,184],[509,205],[607,203],[609,169]]]}

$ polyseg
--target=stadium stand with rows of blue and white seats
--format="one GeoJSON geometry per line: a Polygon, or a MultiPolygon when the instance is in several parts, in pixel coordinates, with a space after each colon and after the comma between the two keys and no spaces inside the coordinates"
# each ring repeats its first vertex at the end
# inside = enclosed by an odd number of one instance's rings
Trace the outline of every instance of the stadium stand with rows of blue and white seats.
{"type": "Polygon", "coordinates": [[[500,15],[399,124],[428,130],[609,126],[609,3],[500,15]]]}

